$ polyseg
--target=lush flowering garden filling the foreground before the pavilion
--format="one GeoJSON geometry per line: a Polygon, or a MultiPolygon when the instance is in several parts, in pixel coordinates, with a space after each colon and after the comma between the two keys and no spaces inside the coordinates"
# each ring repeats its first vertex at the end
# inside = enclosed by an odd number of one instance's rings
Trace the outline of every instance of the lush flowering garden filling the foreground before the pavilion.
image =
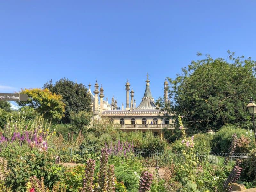
{"type": "MultiPolygon", "coordinates": [[[[123,132],[108,120],[76,131],[26,111],[6,116],[0,132],[1,191],[231,191],[256,186],[252,130],[225,125],[188,135],[177,128],[161,140],[152,132],[123,132]]],[[[167,134],[167,130],[166,130],[167,134]]]]}

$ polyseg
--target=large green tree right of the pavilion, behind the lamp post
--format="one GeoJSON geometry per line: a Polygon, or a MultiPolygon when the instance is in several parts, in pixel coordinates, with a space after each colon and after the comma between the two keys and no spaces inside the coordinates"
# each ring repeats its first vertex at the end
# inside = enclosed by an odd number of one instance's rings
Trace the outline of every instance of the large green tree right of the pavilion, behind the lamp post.
{"type": "Polygon", "coordinates": [[[182,68],[176,79],[169,79],[172,110],[184,115],[184,123],[194,131],[216,130],[250,119],[246,105],[250,97],[256,99],[256,62],[228,53],[229,62],[207,55],[182,68]]]}

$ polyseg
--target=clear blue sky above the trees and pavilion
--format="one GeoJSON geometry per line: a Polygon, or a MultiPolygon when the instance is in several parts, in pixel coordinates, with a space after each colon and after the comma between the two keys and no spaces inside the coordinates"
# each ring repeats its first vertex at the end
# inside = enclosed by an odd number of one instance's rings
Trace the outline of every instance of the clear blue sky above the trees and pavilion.
{"type": "Polygon", "coordinates": [[[256,1],[0,1],[0,92],[66,77],[125,104],[163,95],[166,76],[227,50],[256,59],[256,1]]]}

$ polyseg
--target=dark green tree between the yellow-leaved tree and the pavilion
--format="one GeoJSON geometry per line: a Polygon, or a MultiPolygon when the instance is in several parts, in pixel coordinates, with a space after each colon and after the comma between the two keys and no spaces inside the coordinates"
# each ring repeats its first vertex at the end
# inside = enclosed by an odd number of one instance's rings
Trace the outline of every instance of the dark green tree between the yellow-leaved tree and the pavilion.
{"type": "Polygon", "coordinates": [[[63,123],[70,123],[70,112],[91,111],[91,97],[87,88],[82,84],[62,78],[52,84],[52,80],[46,82],[43,88],[48,88],[52,93],[61,95],[65,103],[65,116],[63,123]]]}

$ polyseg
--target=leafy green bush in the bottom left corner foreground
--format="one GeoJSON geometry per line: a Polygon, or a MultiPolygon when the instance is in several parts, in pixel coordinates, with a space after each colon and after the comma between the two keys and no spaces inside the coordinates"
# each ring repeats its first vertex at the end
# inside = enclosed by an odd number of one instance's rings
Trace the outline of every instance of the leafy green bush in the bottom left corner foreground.
{"type": "Polygon", "coordinates": [[[13,191],[26,191],[25,184],[34,175],[37,178],[44,177],[44,184],[50,189],[60,180],[63,168],[55,165],[55,158],[46,152],[33,150],[20,155],[19,151],[9,149],[8,154],[7,171],[4,176],[6,186],[13,191]]]}

